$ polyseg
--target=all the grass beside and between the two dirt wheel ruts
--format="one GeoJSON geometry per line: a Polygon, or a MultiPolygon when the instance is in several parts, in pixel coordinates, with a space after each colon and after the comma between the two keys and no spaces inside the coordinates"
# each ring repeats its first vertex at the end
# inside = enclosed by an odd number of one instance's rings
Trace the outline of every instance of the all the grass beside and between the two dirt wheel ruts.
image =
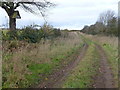
{"type": "MultiPolygon", "coordinates": [[[[36,44],[14,41],[24,47],[7,51],[10,43],[3,42],[3,88],[25,88],[34,87],[43,80],[49,80],[48,76],[53,71],[67,65],[68,59],[76,55],[79,49],[87,43],[89,45],[85,57],[70,72],[63,88],[91,88],[94,83],[94,76],[98,74],[100,66],[100,55],[95,44],[101,45],[107,53],[108,62],[113,71],[114,79],[118,79],[118,56],[117,47],[109,42],[103,42],[94,36],[82,35],[77,32],[70,32],[67,37],[60,37],[55,40],[41,41],[36,44]],[[99,42],[98,42],[99,41],[99,42]],[[44,42],[44,44],[43,44],[44,42]]],[[[112,39],[111,39],[112,40],[112,39]]],[[[73,58],[74,60],[75,58],[73,58]]]]}

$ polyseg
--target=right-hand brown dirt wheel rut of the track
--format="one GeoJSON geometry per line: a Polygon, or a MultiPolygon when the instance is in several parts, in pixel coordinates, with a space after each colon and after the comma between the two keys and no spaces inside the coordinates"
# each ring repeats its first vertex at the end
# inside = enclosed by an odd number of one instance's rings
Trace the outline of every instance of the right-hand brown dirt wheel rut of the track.
{"type": "Polygon", "coordinates": [[[115,88],[112,71],[107,62],[107,55],[100,45],[96,45],[100,55],[100,67],[98,75],[94,78],[94,88],[115,88]]]}

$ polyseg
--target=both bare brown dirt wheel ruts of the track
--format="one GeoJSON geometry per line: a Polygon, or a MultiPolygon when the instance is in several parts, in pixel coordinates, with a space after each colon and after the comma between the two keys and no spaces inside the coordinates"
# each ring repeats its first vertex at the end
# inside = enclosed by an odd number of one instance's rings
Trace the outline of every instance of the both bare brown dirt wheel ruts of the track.
{"type": "MultiPolygon", "coordinates": [[[[96,49],[100,55],[100,67],[98,70],[98,75],[94,77],[94,88],[115,88],[114,79],[112,71],[109,68],[107,62],[107,55],[100,45],[96,45],[96,49]]],[[[48,77],[48,80],[44,80],[40,83],[37,88],[60,88],[65,78],[69,75],[70,71],[77,66],[80,60],[85,57],[88,45],[85,44],[80,50],[80,54],[77,56],[77,59],[74,58],[70,63],[63,66],[58,71],[55,71],[52,75],[48,77]]]]}

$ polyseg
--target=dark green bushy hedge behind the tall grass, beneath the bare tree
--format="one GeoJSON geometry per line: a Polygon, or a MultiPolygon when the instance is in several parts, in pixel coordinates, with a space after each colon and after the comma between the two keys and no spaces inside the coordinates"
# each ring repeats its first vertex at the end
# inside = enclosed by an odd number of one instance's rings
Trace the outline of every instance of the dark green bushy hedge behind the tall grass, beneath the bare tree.
{"type": "Polygon", "coordinates": [[[43,39],[52,39],[61,35],[60,29],[54,29],[52,26],[44,24],[40,29],[33,26],[27,26],[21,30],[7,31],[2,33],[3,40],[20,40],[29,43],[40,42],[43,39]]]}

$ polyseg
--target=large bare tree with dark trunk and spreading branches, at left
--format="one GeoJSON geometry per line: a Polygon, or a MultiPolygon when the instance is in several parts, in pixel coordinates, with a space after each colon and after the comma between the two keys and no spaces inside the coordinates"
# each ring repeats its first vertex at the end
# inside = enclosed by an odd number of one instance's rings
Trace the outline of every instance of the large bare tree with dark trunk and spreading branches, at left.
{"type": "Polygon", "coordinates": [[[17,0],[17,2],[8,2],[8,0],[4,0],[4,2],[0,2],[0,7],[3,8],[8,16],[9,16],[9,29],[15,30],[16,29],[16,18],[21,18],[19,11],[16,9],[18,7],[21,7],[25,11],[31,12],[33,14],[40,14],[44,17],[45,11],[51,7],[54,6],[53,3],[46,1],[46,0],[40,0],[39,2],[35,2],[34,0],[17,0]]]}

